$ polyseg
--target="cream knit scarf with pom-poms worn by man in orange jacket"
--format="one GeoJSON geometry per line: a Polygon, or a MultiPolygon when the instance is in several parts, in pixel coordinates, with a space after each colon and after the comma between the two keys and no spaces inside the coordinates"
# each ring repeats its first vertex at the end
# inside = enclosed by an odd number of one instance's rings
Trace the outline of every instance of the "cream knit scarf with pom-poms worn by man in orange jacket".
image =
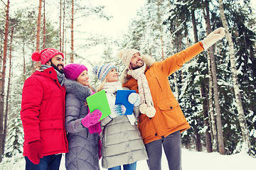
{"type": "Polygon", "coordinates": [[[154,117],[156,110],[154,109],[154,103],[151,96],[151,91],[149,89],[149,82],[144,74],[146,69],[146,64],[138,69],[129,69],[128,75],[137,79],[139,88],[139,97],[141,98],[142,104],[139,106],[139,111],[142,114],[146,114],[149,118],[154,117]]]}

